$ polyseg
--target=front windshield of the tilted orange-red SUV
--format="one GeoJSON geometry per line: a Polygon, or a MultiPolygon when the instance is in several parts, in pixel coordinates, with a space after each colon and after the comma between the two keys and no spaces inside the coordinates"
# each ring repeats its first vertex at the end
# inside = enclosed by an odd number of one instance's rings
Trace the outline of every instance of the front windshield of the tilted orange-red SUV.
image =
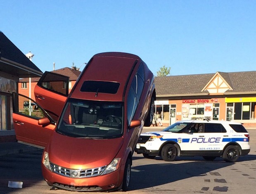
{"type": "Polygon", "coordinates": [[[123,102],[69,98],[56,132],[77,138],[121,137],[123,134],[123,102]]]}

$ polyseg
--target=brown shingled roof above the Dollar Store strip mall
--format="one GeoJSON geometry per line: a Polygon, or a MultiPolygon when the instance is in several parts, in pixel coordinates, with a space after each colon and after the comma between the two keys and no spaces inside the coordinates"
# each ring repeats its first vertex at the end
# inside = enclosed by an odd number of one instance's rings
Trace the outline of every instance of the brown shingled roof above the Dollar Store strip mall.
{"type": "MultiPolygon", "coordinates": [[[[218,72],[232,87],[225,93],[256,93],[256,71],[218,72]]],[[[185,76],[163,76],[155,78],[156,95],[184,96],[204,95],[207,90],[201,91],[215,73],[195,74],[185,76]]]]}

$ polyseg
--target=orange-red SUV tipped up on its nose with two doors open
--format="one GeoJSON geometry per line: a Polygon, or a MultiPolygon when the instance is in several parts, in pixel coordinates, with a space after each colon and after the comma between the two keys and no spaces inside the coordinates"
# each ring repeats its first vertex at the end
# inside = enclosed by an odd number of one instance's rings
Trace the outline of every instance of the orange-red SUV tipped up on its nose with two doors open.
{"type": "Polygon", "coordinates": [[[45,72],[36,102],[14,93],[17,140],[43,147],[48,185],[72,191],[127,190],[132,155],[156,99],[154,75],[140,57],[94,55],[68,95],[67,77],[45,72]]]}

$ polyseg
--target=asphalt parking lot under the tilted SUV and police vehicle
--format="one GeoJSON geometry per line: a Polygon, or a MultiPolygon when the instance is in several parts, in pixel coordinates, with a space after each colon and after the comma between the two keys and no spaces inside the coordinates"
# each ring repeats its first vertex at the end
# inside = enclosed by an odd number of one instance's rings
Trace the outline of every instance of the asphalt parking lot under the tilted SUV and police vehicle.
{"type": "MultiPolygon", "coordinates": [[[[144,128],[143,132],[161,129],[163,128],[144,128]]],[[[166,162],[161,157],[145,159],[142,154],[134,153],[130,187],[125,193],[254,194],[256,129],[248,129],[248,132],[251,151],[247,156],[241,156],[235,163],[225,162],[222,158],[205,161],[202,157],[177,157],[173,162],[166,162]]],[[[1,156],[0,194],[81,194],[81,192],[51,190],[42,177],[41,155],[42,150],[28,150],[1,156]],[[8,188],[8,181],[23,182],[23,188],[8,188]]],[[[124,194],[120,191],[112,193],[124,194]]]]}

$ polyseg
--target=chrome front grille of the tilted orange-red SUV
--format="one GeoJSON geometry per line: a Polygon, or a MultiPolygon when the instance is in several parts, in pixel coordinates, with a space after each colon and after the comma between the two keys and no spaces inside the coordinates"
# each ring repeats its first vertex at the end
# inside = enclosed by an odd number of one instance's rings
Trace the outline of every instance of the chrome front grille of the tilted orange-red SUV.
{"type": "Polygon", "coordinates": [[[57,164],[51,163],[50,166],[52,169],[52,172],[65,176],[65,177],[71,177],[71,178],[88,178],[88,177],[96,177],[102,174],[102,172],[105,170],[106,166],[102,166],[99,168],[90,168],[90,169],[69,169],[64,168],[62,166],[58,166],[57,164]]]}

